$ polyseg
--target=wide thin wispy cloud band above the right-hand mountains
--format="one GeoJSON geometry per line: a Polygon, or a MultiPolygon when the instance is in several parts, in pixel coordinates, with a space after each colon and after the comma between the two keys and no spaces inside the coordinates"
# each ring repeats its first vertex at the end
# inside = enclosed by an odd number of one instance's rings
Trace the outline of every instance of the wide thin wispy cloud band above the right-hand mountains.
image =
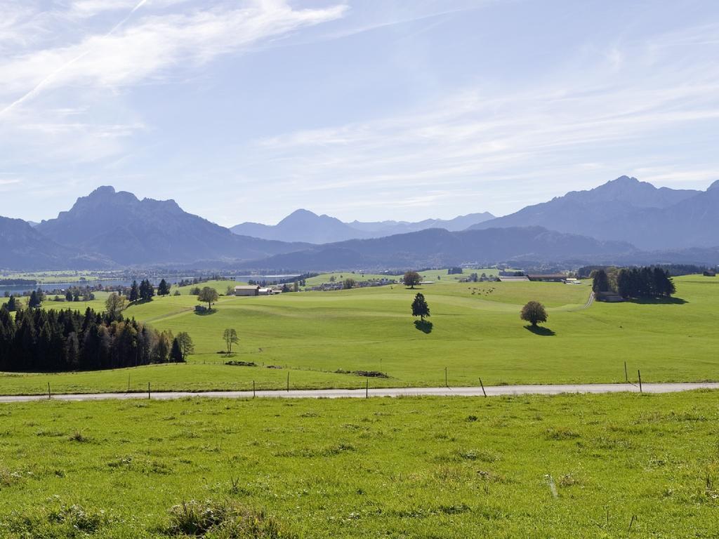
{"type": "MultiPolygon", "coordinates": [[[[697,29],[697,34],[704,32],[697,29]]],[[[683,40],[689,40],[687,35],[683,40]]],[[[664,39],[677,42],[674,34],[664,39]]],[[[699,38],[696,42],[711,46],[699,38]]],[[[470,198],[477,201],[482,193],[498,194],[493,181],[504,187],[521,181],[522,198],[495,198],[490,208],[474,208],[500,213],[528,198],[561,194],[567,189],[557,186],[557,178],[572,178],[572,185],[588,188],[599,179],[638,170],[645,160],[681,158],[686,149],[679,139],[675,155],[647,155],[647,147],[659,141],[666,145],[673,132],[716,125],[719,119],[719,66],[710,60],[713,56],[686,63],[682,55],[667,53],[660,57],[663,69],[656,70],[654,55],[668,46],[659,47],[661,39],[652,43],[651,52],[644,42],[627,43],[622,50],[610,50],[608,63],[597,61],[527,91],[475,86],[383,119],[267,137],[248,152],[247,168],[262,162],[265,178],[271,175],[301,192],[326,193],[327,201],[336,200],[329,193],[391,186],[388,196],[398,207],[438,202],[413,192],[429,193],[437,185],[466,197],[463,188],[472,184],[470,198]]],[[[682,169],[674,163],[674,168],[648,177],[660,185],[687,182],[698,168],[695,184],[712,178],[702,165],[682,169]]]]}

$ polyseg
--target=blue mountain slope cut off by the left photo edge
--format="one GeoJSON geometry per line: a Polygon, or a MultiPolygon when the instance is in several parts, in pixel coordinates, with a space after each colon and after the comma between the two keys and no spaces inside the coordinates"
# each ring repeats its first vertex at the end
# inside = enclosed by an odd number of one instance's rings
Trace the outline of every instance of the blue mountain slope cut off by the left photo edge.
{"type": "Polygon", "coordinates": [[[55,243],[22,219],[0,217],[0,268],[5,270],[101,269],[111,262],[55,243]]]}

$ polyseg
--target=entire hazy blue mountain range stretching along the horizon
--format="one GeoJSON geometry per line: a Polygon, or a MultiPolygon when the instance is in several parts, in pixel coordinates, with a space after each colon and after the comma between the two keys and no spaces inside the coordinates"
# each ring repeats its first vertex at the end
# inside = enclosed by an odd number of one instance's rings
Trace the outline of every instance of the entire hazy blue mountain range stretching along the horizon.
{"type": "Polygon", "coordinates": [[[348,270],[510,260],[715,264],[718,225],[719,181],[705,191],[674,190],[622,176],[496,218],[472,213],[447,221],[344,223],[298,210],[275,226],[244,223],[232,231],[183,211],[175,201],[139,200],[106,186],[39,224],[0,218],[0,268],[348,270]]]}

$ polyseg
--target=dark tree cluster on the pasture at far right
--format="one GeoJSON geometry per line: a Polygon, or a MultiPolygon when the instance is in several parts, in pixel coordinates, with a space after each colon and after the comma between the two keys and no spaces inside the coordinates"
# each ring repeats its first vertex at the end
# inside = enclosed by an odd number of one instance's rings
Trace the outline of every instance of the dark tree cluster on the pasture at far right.
{"type": "Polygon", "coordinates": [[[669,272],[661,267],[600,269],[592,272],[594,292],[615,292],[624,299],[669,298],[676,292],[669,272]]]}

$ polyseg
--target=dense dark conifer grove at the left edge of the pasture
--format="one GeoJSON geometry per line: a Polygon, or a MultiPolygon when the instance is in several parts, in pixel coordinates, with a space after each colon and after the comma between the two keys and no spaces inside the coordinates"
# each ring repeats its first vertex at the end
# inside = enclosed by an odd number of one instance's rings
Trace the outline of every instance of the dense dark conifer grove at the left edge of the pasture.
{"type": "Polygon", "coordinates": [[[0,371],[65,372],[185,361],[188,333],[173,336],[122,315],[0,308],[0,371]]]}

